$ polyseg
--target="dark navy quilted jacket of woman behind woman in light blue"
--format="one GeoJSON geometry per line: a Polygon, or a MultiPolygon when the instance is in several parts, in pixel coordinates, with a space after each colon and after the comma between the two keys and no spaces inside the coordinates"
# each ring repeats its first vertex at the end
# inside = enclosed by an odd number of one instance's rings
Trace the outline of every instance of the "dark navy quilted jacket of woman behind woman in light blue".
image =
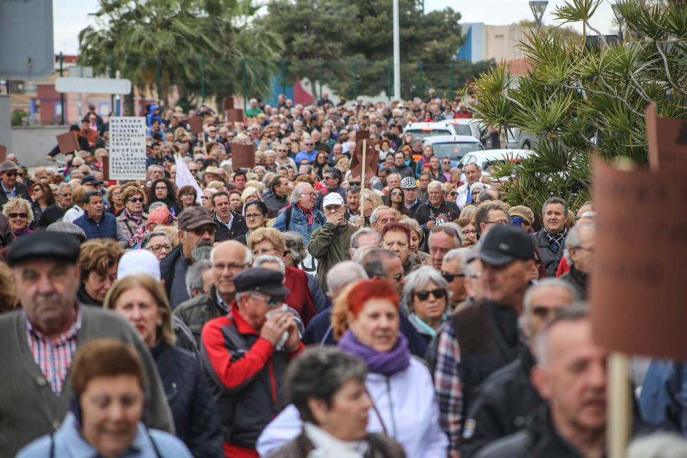
{"type": "Polygon", "coordinates": [[[195,458],[223,456],[219,415],[199,361],[190,352],[166,343],[150,352],[172,409],[177,437],[195,458]]]}

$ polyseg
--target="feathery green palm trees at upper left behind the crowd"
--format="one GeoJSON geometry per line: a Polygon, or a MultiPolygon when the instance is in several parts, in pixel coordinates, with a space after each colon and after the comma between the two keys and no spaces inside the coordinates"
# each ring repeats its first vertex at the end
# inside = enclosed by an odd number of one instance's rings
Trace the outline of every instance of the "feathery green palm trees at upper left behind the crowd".
{"type": "Polygon", "coordinates": [[[100,0],[96,24],[79,34],[80,64],[108,73],[110,58],[135,86],[157,83],[162,93],[176,84],[183,100],[241,92],[243,71],[250,93],[267,95],[279,36],[256,27],[250,0],[100,0]],[[251,65],[242,59],[251,58],[251,65]]]}

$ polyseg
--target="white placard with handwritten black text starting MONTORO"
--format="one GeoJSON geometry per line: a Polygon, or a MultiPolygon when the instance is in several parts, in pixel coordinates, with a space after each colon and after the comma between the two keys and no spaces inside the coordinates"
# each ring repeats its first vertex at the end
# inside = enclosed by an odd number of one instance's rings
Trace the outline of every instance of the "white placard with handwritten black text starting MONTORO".
{"type": "Polygon", "coordinates": [[[110,179],[146,179],[145,117],[110,118],[110,179]]]}

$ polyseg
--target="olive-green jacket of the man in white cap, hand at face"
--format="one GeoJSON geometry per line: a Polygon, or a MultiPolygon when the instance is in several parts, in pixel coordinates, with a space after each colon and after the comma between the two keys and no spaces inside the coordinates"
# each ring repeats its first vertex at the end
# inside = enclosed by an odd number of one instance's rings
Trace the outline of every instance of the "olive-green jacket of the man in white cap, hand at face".
{"type": "Polygon", "coordinates": [[[317,279],[322,285],[322,290],[327,290],[326,278],[329,269],[334,264],[350,260],[350,236],[357,230],[357,227],[351,225],[335,226],[331,222],[326,222],[310,237],[308,253],[317,260],[317,279]]]}

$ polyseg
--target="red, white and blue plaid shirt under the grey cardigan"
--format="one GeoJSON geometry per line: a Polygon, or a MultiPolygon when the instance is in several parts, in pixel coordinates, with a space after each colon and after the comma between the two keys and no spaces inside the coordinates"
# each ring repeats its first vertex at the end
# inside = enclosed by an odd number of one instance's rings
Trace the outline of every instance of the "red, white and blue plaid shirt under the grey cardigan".
{"type": "Polygon", "coordinates": [[[76,338],[80,329],[80,309],[77,309],[76,321],[71,325],[71,328],[54,340],[41,334],[26,317],[26,337],[29,341],[31,354],[47,378],[52,391],[58,396],[62,393],[71,360],[76,353],[76,338]]]}

